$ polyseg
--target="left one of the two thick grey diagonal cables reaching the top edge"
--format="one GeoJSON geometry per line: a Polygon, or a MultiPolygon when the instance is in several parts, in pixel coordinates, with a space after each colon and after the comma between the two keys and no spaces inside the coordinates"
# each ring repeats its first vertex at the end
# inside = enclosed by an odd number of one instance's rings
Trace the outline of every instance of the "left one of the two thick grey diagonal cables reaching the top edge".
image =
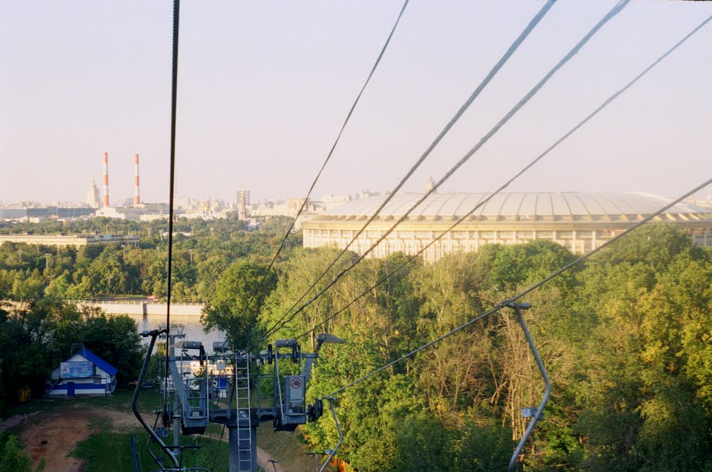
{"type": "MultiPolygon", "coordinates": [[[[440,134],[433,140],[431,145],[426,149],[426,151],[422,154],[422,156],[417,160],[417,162],[411,167],[411,169],[405,174],[405,176],[401,179],[401,181],[397,184],[397,186],[389,193],[387,198],[382,202],[382,204],[378,207],[378,209],[375,211],[375,213],[370,217],[370,219],[366,222],[366,224],[357,232],[357,234],[351,239],[351,241],[346,245],[346,247],[339,253],[339,255],[334,259],[332,263],[326,268],[326,270],[315,280],[314,283],[305,291],[305,293],[297,300],[289,310],[286,311],[286,313],[280,318],[275,325],[273,325],[271,328],[269,328],[266,332],[266,334],[261,338],[261,340],[258,340],[257,342],[253,343],[253,345],[258,344],[259,342],[265,340],[268,336],[270,336],[272,333],[272,330],[275,329],[275,327],[281,327],[284,325],[284,323],[280,324],[289,314],[290,312],[304,299],[304,297],[312,290],[315,285],[321,280],[328,271],[334,266],[334,264],[343,256],[348,248],[351,246],[351,244],[357,240],[357,238],[362,234],[363,231],[367,228],[367,226],[378,216],[379,212],[386,206],[386,204],[395,196],[396,192],[399,191],[401,187],[405,184],[405,182],[412,176],[412,174],[415,172],[415,170],[422,164],[422,162],[430,155],[430,153],[434,150],[434,148],[439,144],[439,142],[445,137],[445,135],[449,132],[451,127],[455,125],[455,123],[464,115],[464,112],[468,109],[468,107],[474,102],[474,100],[480,95],[482,90],[488,85],[488,83],[491,82],[491,80],[494,78],[494,76],[498,73],[498,71],[503,67],[503,65],[511,58],[513,53],[519,48],[521,43],[525,40],[527,36],[529,36],[529,33],[533,31],[535,26],[543,19],[545,14],[549,11],[549,9],[553,6],[555,3],[555,0],[549,0],[547,1],[544,6],[538,11],[538,13],[533,17],[533,19],[529,22],[527,27],[520,33],[518,38],[515,39],[515,41],[511,44],[511,46],[507,49],[507,51],[504,53],[504,55],[500,58],[500,60],[494,65],[494,67],[489,71],[489,73],[486,75],[486,77],[482,80],[482,82],[478,85],[478,87],[473,91],[473,93],[470,95],[470,97],[465,101],[465,103],[459,108],[459,110],[455,113],[455,115],[450,119],[450,121],[445,125],[443,130],[441,130],[440,134]]],[[[369,250],[370,251],[370,250],[369,250]]],[[[360,261],[360,259],[359,259],[360,261]]],[[[356,262],[358,263],[358,261],[356,262]]],[[[351,266],[352,267],[352,266],[351,266]]],[[[350,268],[350,267],[349,267],[350,268]]],[[[346,271],[349,269],[347,268],[346,271]]],[[[345,272],[344,272],[345,273],[345,272]]],[[[342,274],[337,275],[335,280],[337,280],[342,274]]],[[[331,284],[333,285],[333,283],[331,284]]],[[[330,287],[331,285],[328,285],[330,287]]],[[[327,287],[327,288],[328,288],[327,287]]],[[[325,289],[326,290],[326,289],[325,289]]],[[[323,291],[325,291],[323,290],[323,291]]],[[[318,298],[322,293],[320,292],[316,298],[318,298]]],[[[313,299],[315,300],[315,298],[313,299]]],[[[305,308],[306,305],[309,303],[313,302],[313,300],[310,300],[307,304],[303,305],[299,310],[297,310],[294,315],[299,313],[303,308],[305,308]]],[[[292,318],[294,317],[292,315],[292,318]]],[[[290,318],[291,319],[291,318],[290,318]]],[[[288,321],[287,321],[288,322],[288,321]]],[[[277,328],[279,330],[280,328],[277,328]]],[[[252,347],[251,345],[250,347],[252,347]]]]}

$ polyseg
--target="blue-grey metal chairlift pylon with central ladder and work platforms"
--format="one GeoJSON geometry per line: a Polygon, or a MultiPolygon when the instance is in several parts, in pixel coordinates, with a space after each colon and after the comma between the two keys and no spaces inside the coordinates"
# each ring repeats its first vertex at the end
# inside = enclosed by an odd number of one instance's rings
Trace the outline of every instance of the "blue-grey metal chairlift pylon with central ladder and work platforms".
{"type": "MultiPolygon", "coordinates": [[[[166,468],[161,461],[157,461],[159,470],[207,470],[201,467],[182,468],[182,461],[178,461],[176,456],[179,454],[176,451],[194,449],[195,446],[165,444],[159,437],[162,435],[157,434],[157,431],[142,419],[136,407],[140,385],[145,377],[156,337],[162,332],[164,330],[142,333],[145,337],[150,336],[151,340],[139,377],[140,382],[134,392],[134,414],[149,432],[150,443],[157,443],[172,462],[173,467],[166,468]]],[[[333,335],[320,334],[317,337],[315,352],[302,352],[295,339],[276,340],[274,348],[269,345],[267,350],[257,354],[232,352],[226,342],[214,342],[213,352],[206,355],[201,342],[169,340],[166,362],[174,386],[171,392],[174,402],[172,414],[162,415],[162,412],[157,412],[157,415],[163,416],[163,429],[167,430],[170,426],[177,429],[177,426],[180,426],[182,434],[189,436],[204,434],[210,423],[223,424],[229,431],[229,471],[257,472],[257,427],[261,423],[272,421],[275,431],[294,431],[300,424],[318,420],[323,414],[322,400],[316,399],[313,404],[306,403],[306,387],[311,370],[324,344],[343,342],[345,341],[333,335]],[[281,375],[281,362],[297,364],[300,367],[299,373],[281,375]],[[272,374],[259,374],[266,365],[273,365],[272,374]],[[271,397],[261,394],[260,381],[265,377],[272,382],[271,397]],[[258,382],[253,382],[255,379],[258,382]],[[257,393],[256,397],[254,392],[257,393]]],[[[328,401],[337,421],[333,399],[328,401]]],[[[338,421],[337,429],[341,431],[338,421]]],[[[341,441],[340,432],[339,444],[341,441]]],[[[330,458],[336,449],[328,451],[330,458]]]]}

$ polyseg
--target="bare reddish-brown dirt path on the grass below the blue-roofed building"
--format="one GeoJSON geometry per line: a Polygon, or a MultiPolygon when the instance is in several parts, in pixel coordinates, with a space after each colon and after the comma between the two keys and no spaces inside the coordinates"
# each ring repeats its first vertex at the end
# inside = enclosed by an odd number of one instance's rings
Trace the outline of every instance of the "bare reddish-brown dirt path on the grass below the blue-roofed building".
{"type": "MultiPolygon", "coordinates": [[[[51,413],[34,412],[31,414],[12,416],[0,424],[0,431],[19,427],[19,439],[25,445],[24,451],[38,466],[45,459],[46,472],[83,472],[85,461],[71,457],[78,442],[87,439],[90,434],[89,420],[108,418],[113,429],[125,431],[138,426],[136,417],[129,411],[114,411],[95,408],[69,408],[51,413]]],[[[223,439],[228,442],[227,438],[223,439]]],[[[274,472],[275,468],[268,463],[271,454],[257,448],[257,463],[264,472],[274,472]]],[[[288,472],[281,464],[276,464],[276,472],[288,472]]]]}

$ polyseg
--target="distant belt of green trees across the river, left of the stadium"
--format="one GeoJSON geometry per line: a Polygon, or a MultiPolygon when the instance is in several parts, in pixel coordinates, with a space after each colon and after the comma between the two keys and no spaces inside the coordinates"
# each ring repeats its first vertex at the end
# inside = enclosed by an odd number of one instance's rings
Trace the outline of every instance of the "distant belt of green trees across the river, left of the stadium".
{"type": "MultiPolygon", "coordinates": [[[[172,299],[211,300],[219,276],[230,263],[272,256],[290,221],[275,218],[263,224],[259,231],[245,231],[244,222],[236,219],[179,219],[174,225],[172,299]]],[[[110,295],[164,298],[167,294],[166,221],[139,223],[95,218],[65,226],[51,221],[43,224],[0,222],[0,232],[22,231],[136,234],[140,241],[137,247],[108,243],[78,249],[3,243],[0,246],[0,293],[8,298],[31,300],[45,294],[69,300],[110,295]]],[[[290,238],[290,246],[299,243],[298,236],[290,238]]]]}

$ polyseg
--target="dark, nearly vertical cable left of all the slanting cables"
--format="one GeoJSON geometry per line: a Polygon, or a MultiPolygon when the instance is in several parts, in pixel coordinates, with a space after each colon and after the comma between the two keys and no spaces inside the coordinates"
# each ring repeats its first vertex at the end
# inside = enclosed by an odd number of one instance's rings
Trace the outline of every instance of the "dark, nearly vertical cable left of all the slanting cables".
{"type": "MultiPolygon", "coordinates": [[[[168,283],[166,300],[166,372],[163,397],[163,409],[168,403],[168,355],[171,343],[171,278],[173,261],[173,192],[175,185],[176,163],[176,104],[178,92],[178,24],[180,16],[180,0],[173,0],[173,68],[171,80],[171,164],[169,177],[169,203],[168,203],[168,283]]],[[[165,419],[164,419],[165,421],[165,419]]]]}

